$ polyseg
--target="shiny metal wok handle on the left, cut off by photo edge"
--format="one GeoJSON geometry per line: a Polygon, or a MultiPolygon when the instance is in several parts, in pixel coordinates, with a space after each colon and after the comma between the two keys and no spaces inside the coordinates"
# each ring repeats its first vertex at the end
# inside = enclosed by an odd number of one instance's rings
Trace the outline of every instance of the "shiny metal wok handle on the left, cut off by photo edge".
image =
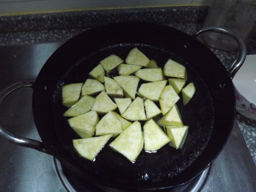
{"type": "MultiPolygon", "coordinates": [[[[17,82],[14,83],[12,85],[10,85],[9,87],[6,87],[5,89],[3,89],[0,92],[0,106],[1,103],[3,102],[3,100],[12,92],[20,89],[20,88],[31,88],[33,89],[34,84],[30,83],[30,82],[17,82]]],[[[37,151],[41,151],[44,153],[47,153],[49,155],[51,155],[46,149],[45,146],[42,142],[37,141],[37,140],[33,140],[33,139],[28,139],[28,138],[24,138],[24,137],[20,137],[18,135],[13,134],[12,132],[8,131],[4,125],[2,124],[2,122],[0,121],[0,135],[10,141],[11,143],[14,143],[16,145],[19,146],[23,146],[23,147],[28,147],[28,148],[33,148],[36,149],[37,151]]]]}

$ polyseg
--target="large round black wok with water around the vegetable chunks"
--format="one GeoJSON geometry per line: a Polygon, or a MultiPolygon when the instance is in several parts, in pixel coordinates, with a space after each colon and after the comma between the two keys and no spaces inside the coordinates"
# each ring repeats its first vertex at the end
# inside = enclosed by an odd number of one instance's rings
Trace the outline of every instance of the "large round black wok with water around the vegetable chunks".
{"type": "MultiPolygon", "coordinates": [[[[241,57],[240,63],[244,54],[241,57]]],[[[9,92],[27,86],[32,84],[18,83],[7,88],[0,101],[9,92]]],[[[33,115],[42,143],[14,136],[2,124],[1,135],[18,145],[49,153],[78,175],[110,188],[135,191],[188,183],[218,156],[234,122],[234,87],[220,60],[195,37],[151,23],[110,24],[73,37],[47,60],[33,89],[33,115]],[[186,66],[187,83],[194,82],[196,86],[188,105],[183,106],[181,100],[177,103],[183,123],[189,125],[187,140],[181,150],[166,145],[156,153],[142,151],[135,163],[108,145],[95,161],[86,160],[73,147],[72,139],[79,136],[63,117],[67,108],[62,105],[61,86],[85,82],[88,72],[100,60],[110,54],[125,59],[134,47],[155,59],[160,67],[169,58],[186,66]]]]}

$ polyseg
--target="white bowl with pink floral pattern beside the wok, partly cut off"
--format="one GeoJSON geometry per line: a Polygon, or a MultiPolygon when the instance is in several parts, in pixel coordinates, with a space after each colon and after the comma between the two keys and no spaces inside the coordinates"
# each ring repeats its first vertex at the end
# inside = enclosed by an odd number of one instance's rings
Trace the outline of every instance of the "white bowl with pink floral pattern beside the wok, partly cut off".
{"type": "Polygon", "coordinates": [[[236,93],[236,111],[256,120],[256,55],[247,55],[233,78],[236,93]]]}

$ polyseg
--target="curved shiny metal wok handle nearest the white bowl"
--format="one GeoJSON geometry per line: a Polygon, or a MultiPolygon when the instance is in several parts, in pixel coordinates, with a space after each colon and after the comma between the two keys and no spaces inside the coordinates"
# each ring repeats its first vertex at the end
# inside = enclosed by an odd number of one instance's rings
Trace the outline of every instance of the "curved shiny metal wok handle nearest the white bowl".
{"type": "Polygon", "coordinates": [[[236,62],[234,63],[234,65],[229,70],[230,77],[231,77],[231,79],[233,79],[234,76],[236,75],[236,72],[238,71],[238,69],[243,65],[245,57],[246,57],[246,46],[245,46],[243,38],[240,35],[238,35],[236,32],[234,32],[228,28],[221,28],[221,27],[203,28],[203,29],[200,29],[199,31],[197,31],[193,36],[198,37],[199,35],[206,33],[206,32],[224,33],[228,36],[233,37],[236,40],[238,47],[239,47],[239,55],[238,55],[238,58],[237,58],[236,62]]]}

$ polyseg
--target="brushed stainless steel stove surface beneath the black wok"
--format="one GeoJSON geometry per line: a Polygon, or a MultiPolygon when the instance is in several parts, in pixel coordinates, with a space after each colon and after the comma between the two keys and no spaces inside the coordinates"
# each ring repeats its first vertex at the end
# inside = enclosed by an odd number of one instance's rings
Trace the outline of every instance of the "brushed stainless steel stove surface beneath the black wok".
{"type": "MultiPolygon", "coordinates": [[[[18,82],[35,82],[61,43],[0,47],[0,90],[18,82]]],[[[1,122],[11,132],[40,140],[32,114],[32,90],[21,89],[0,107],[1,122]]],[[[216,141],[218,142],[218,141],[216,141]]],[[[72,175],[50,155],[0,138],[0,191],[117,191],[72,175]],[[73,178],[73,179],[72,179],[73,178]],[[75,178],[75,179],[74,179],[75,178]]],[[[255,191],[256,167],[237,123],[220,155],[191,183],[167,191],[255,191]]]]}

